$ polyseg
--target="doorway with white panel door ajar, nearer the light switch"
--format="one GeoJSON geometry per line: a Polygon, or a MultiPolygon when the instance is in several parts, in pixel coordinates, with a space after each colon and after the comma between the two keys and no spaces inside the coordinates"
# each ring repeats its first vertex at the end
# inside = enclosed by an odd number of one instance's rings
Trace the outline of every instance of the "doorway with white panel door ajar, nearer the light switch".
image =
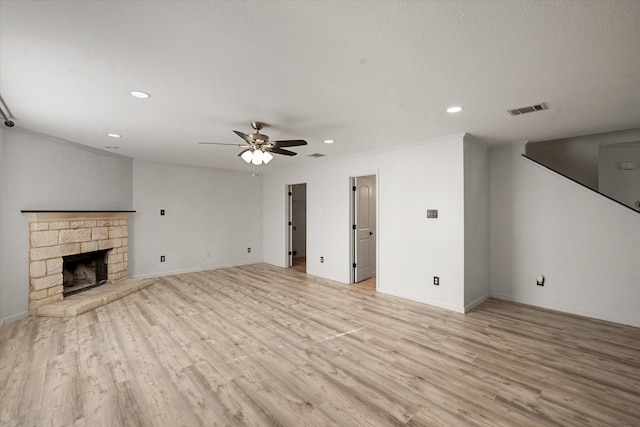
{"type": "Polygon", "coordinates": [[[352,283],[376,286],[377,218],[376,176],[351,178],[351,266],[352,283]]]}

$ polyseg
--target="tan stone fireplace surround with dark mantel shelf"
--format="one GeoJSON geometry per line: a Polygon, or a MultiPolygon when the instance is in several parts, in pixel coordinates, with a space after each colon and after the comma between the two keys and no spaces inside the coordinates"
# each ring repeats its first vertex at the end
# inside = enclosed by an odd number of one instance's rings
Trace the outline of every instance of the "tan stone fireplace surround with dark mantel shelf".
{"type": "MultiPolygon", "coordinates": [[[[106,282],[116,283],[127,278],[129,212],[53,212],[23,211],[29,215],[29,312],[38,307],[62,301],[65,276],[84,279],[91,286],[105,282],[96,279],[95,270],[102,266],[91,266],[79,261],[95,253],[102,255],[106,269],[106,282]],[[83,255],[84,254],[84,255],[83,255]],[[68,267],[65,260],[79,267],[68,267]],[[69,272],[74,268],[74,272],[69,272]],[[77,271],[75,269],[78,269],[77,271]],[[88,277],[93,274],[93,279],[88,277]],[[95,284],[88,283],[95,280],[95,284]]],[[[98,262],[100,264],[100,262],[98,262]]],[[[100,272],[98,272],[100,273],[100,272]]],[[[66,293],[66,292],[65,292],[66,293]]]]}

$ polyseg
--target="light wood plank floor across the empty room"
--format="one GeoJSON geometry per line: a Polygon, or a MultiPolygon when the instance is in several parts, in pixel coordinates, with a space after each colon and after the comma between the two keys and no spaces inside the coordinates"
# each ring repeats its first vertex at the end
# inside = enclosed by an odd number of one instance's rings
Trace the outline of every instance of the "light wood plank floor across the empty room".
{"type": "Polygon", "coordinates": [[[640,329],[265,264],[0,327],[2,426],[640,425],[640,329]]]}

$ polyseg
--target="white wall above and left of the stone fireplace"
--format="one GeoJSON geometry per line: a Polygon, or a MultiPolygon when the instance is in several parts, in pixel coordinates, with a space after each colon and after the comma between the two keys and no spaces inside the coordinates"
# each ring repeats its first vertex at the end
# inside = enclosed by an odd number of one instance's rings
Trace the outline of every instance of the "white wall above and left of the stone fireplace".
{"type": "Polygon", "coordinates": [[[3,130],[3,319],[27,315],[29,225],[21,210],[130,210],[132,161],[17,128],[3,130]]]}

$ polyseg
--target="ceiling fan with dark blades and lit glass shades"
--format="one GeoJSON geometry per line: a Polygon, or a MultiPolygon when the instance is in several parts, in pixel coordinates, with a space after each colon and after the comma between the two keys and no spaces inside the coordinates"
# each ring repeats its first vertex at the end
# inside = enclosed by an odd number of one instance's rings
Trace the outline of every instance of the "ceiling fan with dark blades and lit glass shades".
{"type": "Polygon", "coordinates": [[[253,163],[254,165],[267,164],[272,159],[274,154],[283,154],[285,156],[295,156],[295,153],[290,150],[285,150],[284,147],[298,147],[300,145],[307,145],[307,141],[302,139],[289,139],[283,141],[269,141],[269,136],[260,133],[260,130],[265,126],[262,122],[251,122],[251,127],[255,130],[255,133],[246,134],[237,130],[234,130],[236,135],[244,140],[242,144],[232,144],[223,142],[199,142],[198,144],[211,144],[211,145],[236,145],[244,148],[238,156],[242,157],[247,163],[253,163]]]}

